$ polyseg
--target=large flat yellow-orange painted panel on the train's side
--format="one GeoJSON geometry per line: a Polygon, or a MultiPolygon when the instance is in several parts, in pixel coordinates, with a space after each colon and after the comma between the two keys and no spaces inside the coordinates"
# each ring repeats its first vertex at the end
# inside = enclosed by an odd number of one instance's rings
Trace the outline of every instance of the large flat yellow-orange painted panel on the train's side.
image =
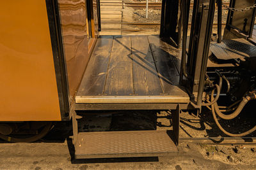
{"type": "Polygon", "coordinates": [[[61,120],[45,0],[0,4],[0,121],[61,120]]]}

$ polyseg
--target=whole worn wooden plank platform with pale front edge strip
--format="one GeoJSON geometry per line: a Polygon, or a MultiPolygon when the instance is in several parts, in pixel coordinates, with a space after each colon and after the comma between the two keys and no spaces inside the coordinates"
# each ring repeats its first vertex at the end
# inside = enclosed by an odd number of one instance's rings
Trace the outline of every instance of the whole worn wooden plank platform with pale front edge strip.
{"type": "Polygon", "coordinates": [[[179,57],[180,51],[158,36],[102,36],[76,103],[189,103],[179,87],[179,57]]]}

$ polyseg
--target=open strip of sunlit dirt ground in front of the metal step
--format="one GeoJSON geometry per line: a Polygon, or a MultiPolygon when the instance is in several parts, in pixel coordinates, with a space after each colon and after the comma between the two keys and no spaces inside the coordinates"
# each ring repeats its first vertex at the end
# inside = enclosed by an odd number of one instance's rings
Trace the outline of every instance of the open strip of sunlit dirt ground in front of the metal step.
{"type": "Polygon", "coordinates": [[[1,144],[0,169],[255,169],[250,147],[182,144],[177,157],[74,160],[68,143],[1,144]],[[216,151],[218,150],[218,151],[216,151]],[[209,152],[209,156],[205,154],[209,152]],[[226,153],[227,152],[227,153],[226,153]],[[229,152],[233,152],[229,155],[229,152]],[[244,154],[247,153],[248,154],[244,154]],[[243,157],[239,159],[237,157],[243,157]],[[251,160],[246,161],[247,159],[251,160]]]}

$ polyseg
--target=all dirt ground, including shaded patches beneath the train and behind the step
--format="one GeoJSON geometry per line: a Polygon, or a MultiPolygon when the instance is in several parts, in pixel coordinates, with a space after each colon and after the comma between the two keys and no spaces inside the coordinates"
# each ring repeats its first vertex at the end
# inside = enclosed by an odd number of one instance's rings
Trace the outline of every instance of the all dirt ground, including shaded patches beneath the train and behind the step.
{"type": "MultiPolygon", "coordinates": [[[[170,130],[171,117],[172,111],[105,111],[104,115],[88,112],[79,120],[79,131],[170,130]]],[[[246,121],[243,115],[240,119],[246,121]]],[[[200,117],[188,111],[180,114],[180,138],[212,136],[223,134],[209,111],[204,110],[200,117]]],[[[71,122],[58,122],[36,143],[1,141],[0,169],[256,169],[256,145],[183,142],[175,157],[77,160],[71,138],[71,122]]]]}

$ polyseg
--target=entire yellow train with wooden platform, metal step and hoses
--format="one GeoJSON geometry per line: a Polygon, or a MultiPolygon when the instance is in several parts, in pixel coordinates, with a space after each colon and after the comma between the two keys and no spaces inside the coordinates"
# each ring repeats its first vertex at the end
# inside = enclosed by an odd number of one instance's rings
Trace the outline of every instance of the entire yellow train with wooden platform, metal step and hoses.
{"type": "Polygon", "coordinates": [[[100,1],[4,1],[0,138],[31,142],[72,119],[76,158],[178,153],[180,110],[236,118],[256,99],[255,1],[163,0],[159,36],[99,36],[100,1]],[[211,42],[218,6],[218,41],[211,42]],[[220,96],[228,106],[218,106],[220,96]],[[78,132],[86,111],[172,110],[173,131],[78,132]]]}

